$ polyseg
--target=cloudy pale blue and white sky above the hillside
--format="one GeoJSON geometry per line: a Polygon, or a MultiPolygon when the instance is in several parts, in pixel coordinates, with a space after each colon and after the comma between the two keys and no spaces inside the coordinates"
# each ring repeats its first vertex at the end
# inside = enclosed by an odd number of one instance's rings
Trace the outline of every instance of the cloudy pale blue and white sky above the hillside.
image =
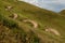
{"type": "Polygon", "coordinates": [[[22,0],[39,8],[60,12],[65,10],[65,0],[22,0]]]}

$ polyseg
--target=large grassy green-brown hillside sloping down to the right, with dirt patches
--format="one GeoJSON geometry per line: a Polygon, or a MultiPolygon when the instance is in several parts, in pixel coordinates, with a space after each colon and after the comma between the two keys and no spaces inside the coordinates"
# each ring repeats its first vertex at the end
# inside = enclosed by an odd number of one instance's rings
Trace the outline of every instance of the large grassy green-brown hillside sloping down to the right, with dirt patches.
{"type": "Polygon", "coordinates": [[[0,43],[65,43],[65,17],[17,0],[0,0],[0,43]]]}

